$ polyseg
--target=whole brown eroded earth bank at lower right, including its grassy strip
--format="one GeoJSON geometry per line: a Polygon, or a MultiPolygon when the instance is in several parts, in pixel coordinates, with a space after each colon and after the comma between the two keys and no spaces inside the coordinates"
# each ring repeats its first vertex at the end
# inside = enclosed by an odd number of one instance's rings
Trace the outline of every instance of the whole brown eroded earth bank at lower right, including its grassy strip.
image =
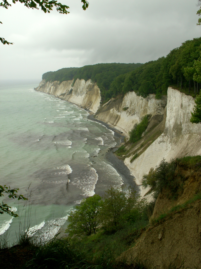
{"type": "Polygon", "coordinates": [[[176,162],[174,181],[178,188],[163,188],[147,229],[121,257],[141,259],[148,268],[200,268],[200,165],[176,162]]]}

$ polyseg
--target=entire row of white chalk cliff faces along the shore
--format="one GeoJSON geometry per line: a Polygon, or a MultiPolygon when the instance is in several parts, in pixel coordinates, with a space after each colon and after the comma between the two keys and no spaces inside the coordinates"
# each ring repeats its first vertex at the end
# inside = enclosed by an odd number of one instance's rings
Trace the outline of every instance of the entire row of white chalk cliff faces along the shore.
{"type": "MultiPolygon", "coordinates": [[[[163,133],[133,162],[130,162],[132,156],[124,161],[135,176],[137,185],[141,184],[143,175],[163,158],[170,161],[171,158],[201,155],[201,124],[189,121],[195,105],[193,97],[169,87],[168,97],[164,96],[161,100],[155,99],[154,94],[142,98],[135,92],[129,92],[124,98],[112,98],[100,107],[101,94],[96,83],[77,79],[73,87],[71,84],[72,80],[61,84],[43,80],[35,90],[54,94],[83,108],[88,107],[96,113],[97,119],[111,124],[126,136],[143,116],[150,114],[152,117],[165,117],[167,110],[163,133]]],[[[148,189],[141,187],[141,191],[144,195],[148,189]]]]}

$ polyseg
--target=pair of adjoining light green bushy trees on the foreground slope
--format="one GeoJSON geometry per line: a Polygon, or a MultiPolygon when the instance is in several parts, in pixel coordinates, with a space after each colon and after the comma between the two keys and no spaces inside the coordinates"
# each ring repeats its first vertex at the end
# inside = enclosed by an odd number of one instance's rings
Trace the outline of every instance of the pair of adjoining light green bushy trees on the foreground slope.
{"type": "Polygon", "coordinates": [[[105,191],[103,199],[95,194],[84,199],[75,211],[70,213],[66,232],[73,236],[91,235],[101,226],[109,233],[116,232],[125,223],[135,223],[143,217],[147,206],[146,199],[141,199],[130,187],[126,190],[113,187],[105,191]]]}

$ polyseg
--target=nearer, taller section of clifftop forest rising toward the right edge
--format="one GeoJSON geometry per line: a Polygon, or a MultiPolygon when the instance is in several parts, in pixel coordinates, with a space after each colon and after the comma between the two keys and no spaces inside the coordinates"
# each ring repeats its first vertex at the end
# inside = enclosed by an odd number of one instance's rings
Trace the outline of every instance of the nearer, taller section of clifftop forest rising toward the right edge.
{"type": "Polygon", "coordinates": [[[177,85],[180,89],[191,88],[197,92],[200,86],[193,80],[193,73],[186,71],[192,68],[200,56],[201,37],[187,40],[179,48],[175,48],[166,57],[150,61],[136,70],[117,77],[105,94],[106,99],[117,94],[135,91],[137,95],[146,97],[155,93],[157,97],[167,94],[168,86],[177,85]],[[192,84],[192,85],[191,85],[192,84]],[[197,86],[197,87],[196,87],[197,86]]]}

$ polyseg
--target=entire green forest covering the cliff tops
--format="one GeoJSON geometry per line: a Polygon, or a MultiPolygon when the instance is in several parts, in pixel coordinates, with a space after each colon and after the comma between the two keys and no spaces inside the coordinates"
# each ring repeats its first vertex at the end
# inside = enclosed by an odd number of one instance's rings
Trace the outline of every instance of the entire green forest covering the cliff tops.
{"type": "Polygon", "coordinates": [[[91,79],[101,91],[102,102],[129,91],[135,91],[142,97],[154,93],[160,98],[167,94],[168,86],[187,89],[196,95],[200,90],[200,81],[193,79],[193,66],[200,57],[200,45],[201,37],[193,38],[156,61],[144,64],[99,63],[80,68],[62,68],[44,73],[42,79],[59,82],[73,80],[73,84],[76,79],[91,79]]]}

